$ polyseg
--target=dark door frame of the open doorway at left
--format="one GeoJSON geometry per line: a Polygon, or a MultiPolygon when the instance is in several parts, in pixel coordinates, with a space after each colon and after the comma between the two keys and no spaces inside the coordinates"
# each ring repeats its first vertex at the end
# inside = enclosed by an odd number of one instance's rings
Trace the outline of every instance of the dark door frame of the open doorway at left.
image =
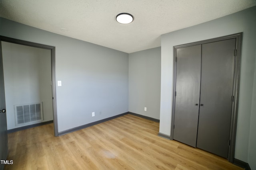
{"type": "MultiPolygon", "coordinates": [[[[0,41],[5,41],[8,43],[26,45],[30,47],[36,47],[40,49],[48,49],[51,51],[51,68],[52,68],[52,105],[53,105],[53,122],[54,122],[54,136],[58,136],[58,121],[57,121],[57,107],[56,107],[56,81],[55,81],[55,47],[50,45],[44,45],[39,43],[32,43],[29,41],[24,41],[20,39],[14,39],[10,37],[4,37],[0,35],[0,41]]],[[[1,54],[2,55],[2,54],[1,54]]]]}

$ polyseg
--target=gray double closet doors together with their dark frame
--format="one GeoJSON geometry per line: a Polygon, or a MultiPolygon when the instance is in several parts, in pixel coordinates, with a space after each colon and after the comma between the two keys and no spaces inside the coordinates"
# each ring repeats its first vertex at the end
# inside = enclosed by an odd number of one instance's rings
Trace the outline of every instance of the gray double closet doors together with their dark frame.
{"type": "Polygon", "coordinates": [[[174,47],[171,139],[234,159],[242,33],[174,47]]]}

